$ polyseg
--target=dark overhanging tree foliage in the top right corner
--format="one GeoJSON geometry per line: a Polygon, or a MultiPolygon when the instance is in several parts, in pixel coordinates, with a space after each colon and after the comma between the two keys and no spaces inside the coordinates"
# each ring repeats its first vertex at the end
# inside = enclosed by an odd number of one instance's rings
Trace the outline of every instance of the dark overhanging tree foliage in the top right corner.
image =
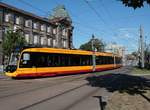
{"type": "Polygon", "coordinates": [[[150,0],[119,0],[122,1],[122,4],[124,4],[127,7],[132,7],[134,9],[143,7],[143,3],[146,2],[150,5],[150,0]]]}

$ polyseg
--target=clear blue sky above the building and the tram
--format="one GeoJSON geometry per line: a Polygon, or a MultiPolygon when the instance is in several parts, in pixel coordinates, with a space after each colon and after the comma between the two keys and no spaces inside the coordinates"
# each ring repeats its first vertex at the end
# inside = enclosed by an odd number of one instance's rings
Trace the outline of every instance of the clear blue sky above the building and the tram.
{"type": "Polygon", "coordinates": [[[73,21],[73,45],[79,48],[92,34],[106,44],[124,46],[126,53],[137,51],[139,28],[143,28],[145,41],[150,44],[150,5],[125,7],[118,0],[1,0],[4,3],[48,17],[57,5],[65,5],[73,21]]]}

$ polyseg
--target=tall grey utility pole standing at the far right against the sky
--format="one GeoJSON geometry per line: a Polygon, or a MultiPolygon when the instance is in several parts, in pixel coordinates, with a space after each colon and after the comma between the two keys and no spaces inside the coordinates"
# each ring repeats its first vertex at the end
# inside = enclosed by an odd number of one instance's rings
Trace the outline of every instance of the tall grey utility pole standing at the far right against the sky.
{"type": "Polygon", "coordinates": [[[143,36],[143,28],[140,26],[140,63],[141,63],[141,68],[144,68],[144,36],[143,36]]]}

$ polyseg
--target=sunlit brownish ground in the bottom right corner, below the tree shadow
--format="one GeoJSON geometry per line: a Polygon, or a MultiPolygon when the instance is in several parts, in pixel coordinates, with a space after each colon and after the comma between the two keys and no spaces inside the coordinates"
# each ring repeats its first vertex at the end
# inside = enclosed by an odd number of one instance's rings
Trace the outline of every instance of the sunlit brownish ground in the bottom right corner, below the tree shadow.
{"type": "Polygon", "coordinates": [[[149,99],[150,91],[147,90],[142,95],[115,92],[111,99],[108,100],[106,110],[148,110],[150,102],[143,96],[149,99]]]}

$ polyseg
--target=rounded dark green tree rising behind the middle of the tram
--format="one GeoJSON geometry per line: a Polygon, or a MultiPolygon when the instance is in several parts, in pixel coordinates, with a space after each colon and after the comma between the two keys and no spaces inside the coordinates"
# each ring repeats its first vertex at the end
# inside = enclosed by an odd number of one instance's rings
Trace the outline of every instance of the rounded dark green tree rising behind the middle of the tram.
{"type": "Polygon", "coordinates": [[[90,41],[88,41],[87,43],[82,44],[79,49],[92,51],[92,40],[94,48],[99,52],[104,52],[105,43],[98,38],[90,39],[90,41]]]}

